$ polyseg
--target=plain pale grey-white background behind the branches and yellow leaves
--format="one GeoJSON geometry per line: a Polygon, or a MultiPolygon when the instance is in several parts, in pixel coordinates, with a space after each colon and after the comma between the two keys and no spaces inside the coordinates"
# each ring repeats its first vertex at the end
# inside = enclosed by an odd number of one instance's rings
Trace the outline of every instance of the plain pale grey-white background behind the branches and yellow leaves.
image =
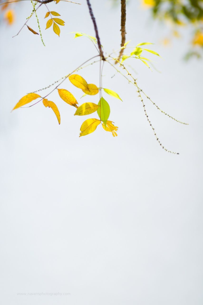
{"type": "MultiPolygon", "coordinates": [[[[58,38],[44,30],[45,7],[39,9],[44,47],[27,28],[14,34],[30,15],[30,2],[19,3],[15,26],[1,25],[1,294],[2,304],[200,305],[202,290],[202,61],[185,63],[190,30],[165,48],[165,28],[149,18],[137,1],[127,7],[127,40],[156,43],[164,58],[149,57],[162,73],[137,61],[138,84],[161,109],[145,101],[161,149],[145,118],[135,88],[104,65],[103,87],[117,138],[101,126],[79,138],[87,117],[51,94],[61,125],[42,103],[10,113],[27,92],[43,88],[96,55],[87,38],[95,35],[86,1],[82,5],[48,4],[65,20],[58,38]],[[17,296],[17,292],[69,292],[70,296],[17,296]]],[[[17,6],[17,5],[16,5],[17,6]]],[[[92,0],[105,51],[120,45],[120,7],[92,0]]],[[[33,16],[28,23],[37,30],[33,16]]],[[[79,72],[99,86],[99,66],[79,72]]],[[[79,103],[84,97],[68,80],[79,103]]],[[[48,93],[48,91],[47,91],[48,93]]],[[[96,117],[92,114],[89,117],[96,117]]]]}

